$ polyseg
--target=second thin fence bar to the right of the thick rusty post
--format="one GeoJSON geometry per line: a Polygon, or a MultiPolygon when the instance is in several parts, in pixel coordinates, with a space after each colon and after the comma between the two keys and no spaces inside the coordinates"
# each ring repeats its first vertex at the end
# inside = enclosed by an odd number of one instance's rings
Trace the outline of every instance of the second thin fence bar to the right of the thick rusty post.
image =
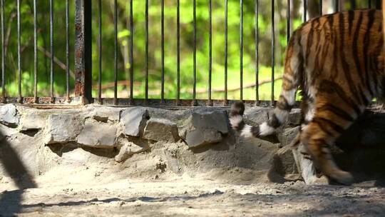
{"type": "MultiPolygon", "coordinates": [[[[113,1],[113,27],[114,27],[114,37],[113,37],[113,60],[114,60],[114,74],[113,74],[113,104],[118,104],[118,2],[117,0],[113,1]]],[[[132,32],[130,32],[132,34],[132,32]]],[[[130,66],[132,67],[132,66],[130,66]]]]}

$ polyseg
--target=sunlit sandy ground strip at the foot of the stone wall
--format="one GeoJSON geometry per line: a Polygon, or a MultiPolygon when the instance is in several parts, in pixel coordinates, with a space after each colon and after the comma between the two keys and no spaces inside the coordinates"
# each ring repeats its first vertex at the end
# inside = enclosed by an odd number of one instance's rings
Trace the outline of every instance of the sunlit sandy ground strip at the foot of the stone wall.
{"type": "MultiPolygon", "coordinates": [[[[72,177],[75,181],[78,176],[72,177]]],[[[384,216],[385,188],[305,186],[302,181],[230,184],[98,178],[17,190],[1,181],[1,216],[384,216]]]]}

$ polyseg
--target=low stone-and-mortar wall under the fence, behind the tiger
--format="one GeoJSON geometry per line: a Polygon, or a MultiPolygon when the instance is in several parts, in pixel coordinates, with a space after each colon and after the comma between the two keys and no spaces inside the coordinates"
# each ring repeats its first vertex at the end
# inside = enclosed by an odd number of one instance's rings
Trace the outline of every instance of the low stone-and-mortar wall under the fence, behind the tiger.
{"type": "MultiPolygon", "coordinates": [[[[247,109],[245,120],[253,125],[262,123],[269,111],[247,109]]],[[[335,148],[339,163],[354,168],[361,179],[378,176],[379,161],[384,161],[379,153],[384,151],[351,147],[381,146],[385,138],[382,120],[384,113],[367,113],[339,140],[342,149],[335,148]],[[370,164],[368,156],[374,163],[370,164]]],[[[34,109],[8,104],[0,106],[0,175],[23,176],[21,167],[32,176],[55,170],[70,175],[70,171],[96,168],[95,176],[100,176],[98,171],[110,171],[127,178],[202,176],[235,182],[282,182],[298,178],[287,145],[297,134],[299,121],[299,110],[294,109],[277,136],[245,140],[230,129],[227,109],[221,108],[89,105],[34,109]]]]}

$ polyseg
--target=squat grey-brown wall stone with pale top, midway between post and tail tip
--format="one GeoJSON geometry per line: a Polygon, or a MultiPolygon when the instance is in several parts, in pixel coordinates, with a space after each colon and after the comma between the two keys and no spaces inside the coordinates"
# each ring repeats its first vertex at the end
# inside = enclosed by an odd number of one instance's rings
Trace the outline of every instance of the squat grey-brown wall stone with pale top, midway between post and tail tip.
{"type": "Polygon", "coordinates": [[[160,118],[150,118],[147,121],[143,138],[153,141],[178,141],[178,126],[172,121],[160,118]]]}

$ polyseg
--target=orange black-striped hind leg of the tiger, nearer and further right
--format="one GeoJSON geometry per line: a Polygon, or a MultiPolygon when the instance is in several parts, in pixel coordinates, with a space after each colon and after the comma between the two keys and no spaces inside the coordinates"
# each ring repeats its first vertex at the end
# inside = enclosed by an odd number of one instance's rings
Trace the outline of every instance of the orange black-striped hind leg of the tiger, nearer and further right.
{"type": "Polygon", "coordinates": [[[351,109],[352,104],[347,104],[347,101],[341,99],[338,101],[335,94],[330,93],[319,93],[314,106],[314,116],[308,120],[307,126],[302,128],[300,140],[319,170],[334,181],[350,184],[353,177],[337,166],[329,146],[334,145],[334,141],[364,109],[356,105],[356,109],[351,109]]]}

